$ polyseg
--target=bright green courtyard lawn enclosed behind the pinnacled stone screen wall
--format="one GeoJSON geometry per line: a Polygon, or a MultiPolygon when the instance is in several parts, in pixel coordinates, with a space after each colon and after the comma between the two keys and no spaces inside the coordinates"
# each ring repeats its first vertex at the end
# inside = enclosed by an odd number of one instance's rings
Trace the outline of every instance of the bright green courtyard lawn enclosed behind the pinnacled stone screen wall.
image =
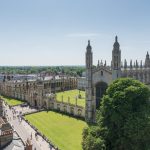
{"type": "Polygon", "coordinates": [[[58,92],[56,93],[56,99],[58,101],[62,101],[62,96],[63,96],[63,101],[68,102],[68,97],[70,97],[70,103],[75,104],[75,99],[77,97],[77,105],[85,107],[85,91],[80,91],[81,98],[78,98],[79,95],[79,90],[69,90],[69,91],[64,91],[64,92],[58,92]]]}

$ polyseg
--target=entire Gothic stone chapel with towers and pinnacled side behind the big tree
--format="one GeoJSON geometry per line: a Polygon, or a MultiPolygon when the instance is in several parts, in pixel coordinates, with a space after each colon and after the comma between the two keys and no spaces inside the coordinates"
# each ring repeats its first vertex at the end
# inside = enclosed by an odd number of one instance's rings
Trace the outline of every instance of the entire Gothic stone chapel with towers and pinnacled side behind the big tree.
{"type": "Polygon", "coordinates": [[[120,44],[117,36],[113,45],[110,66],[106,64],[106,61],[104,64],[102,61],[98,61],[97,66],[93,66],[93,52],[90,41],[88,41],[86,48],[85,60],[86,77],[83,80],[85,80],[86,85],[85,119],[87,122],[95,122],[96,108],[99,107],[102,95],[113,80],[120,77],[131,77],[145,84],[150,84],[150,57],[148,52],[144,64],[142,61],[139,64],[137,60],[134,63],[131,60],[127,64],[125,59],[124,65],[122,65],[120,44]]]}

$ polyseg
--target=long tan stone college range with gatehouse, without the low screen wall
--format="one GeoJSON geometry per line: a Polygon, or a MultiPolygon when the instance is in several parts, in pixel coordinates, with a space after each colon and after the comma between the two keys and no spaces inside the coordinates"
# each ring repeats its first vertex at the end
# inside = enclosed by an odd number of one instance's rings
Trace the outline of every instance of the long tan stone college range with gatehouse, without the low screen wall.
{"type": "Polygon", "coordinates": [[[37,80],[5,80],[0,82],[0,94],[27,101],[31,106],[42,108],[47,93],[77,88],[77,79],[68,76],[46,77],[37,80]]]}

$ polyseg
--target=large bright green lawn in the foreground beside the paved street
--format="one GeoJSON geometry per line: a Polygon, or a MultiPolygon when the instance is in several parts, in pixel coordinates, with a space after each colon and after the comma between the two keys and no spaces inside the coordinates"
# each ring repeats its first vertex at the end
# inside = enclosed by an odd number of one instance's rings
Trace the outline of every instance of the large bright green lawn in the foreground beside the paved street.
{"type": "Polygon", "coordinates": [[[40,112],[25,118],[61,150],[81,150],[84,121],[56,112],[40,112]]]}

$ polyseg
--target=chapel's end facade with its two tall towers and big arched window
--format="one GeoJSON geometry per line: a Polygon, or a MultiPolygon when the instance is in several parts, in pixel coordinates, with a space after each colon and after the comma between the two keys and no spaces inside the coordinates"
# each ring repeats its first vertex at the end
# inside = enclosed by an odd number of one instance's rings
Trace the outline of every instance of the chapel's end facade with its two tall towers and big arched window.
{"type": "Polygon", "coordinates": [[[90,41],[86,48],[86,106],[85,119],[87,122],[95,122],[96,109],[100,107],[100,101],[108,85],[121,76],[121,51],[115,38],[112,51],[112,65],[107,66],[106,61],[93,66],[93,53],[90,41]]]}

